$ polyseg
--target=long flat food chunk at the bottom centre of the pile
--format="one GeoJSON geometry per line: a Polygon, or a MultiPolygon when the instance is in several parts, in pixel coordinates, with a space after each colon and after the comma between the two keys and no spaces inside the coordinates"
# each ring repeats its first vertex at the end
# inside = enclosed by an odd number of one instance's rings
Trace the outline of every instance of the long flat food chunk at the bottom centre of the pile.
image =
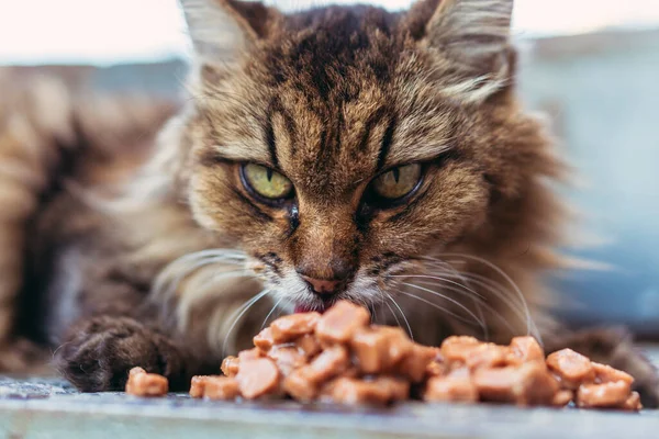
{"type": "Polygon", "coordinates": [[[339,404],[387,404],[406,399],[410,396],[410,383],[390,376],[372,380],[339,378],[323,390],[323,401],[339,404]]]}

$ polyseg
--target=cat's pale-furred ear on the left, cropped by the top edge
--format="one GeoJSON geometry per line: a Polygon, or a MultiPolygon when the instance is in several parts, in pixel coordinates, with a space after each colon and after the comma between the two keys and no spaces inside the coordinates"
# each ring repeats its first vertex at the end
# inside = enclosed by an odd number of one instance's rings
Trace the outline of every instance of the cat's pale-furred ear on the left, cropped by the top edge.
{"type": "Polygon", "coordinates": [[[275,11],[260,2],[179,0],[197,56],[231,63],[267,35],[275,11]]]}

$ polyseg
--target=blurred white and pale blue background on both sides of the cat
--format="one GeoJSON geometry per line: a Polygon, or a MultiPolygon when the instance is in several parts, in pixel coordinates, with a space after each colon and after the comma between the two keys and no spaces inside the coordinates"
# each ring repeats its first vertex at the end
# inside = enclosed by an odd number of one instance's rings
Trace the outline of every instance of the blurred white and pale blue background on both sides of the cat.
{"type": "MultiPolygon", "coordinates": [[[[370,2],[390,10],[411,3],[370,2]]],[[[295,10],[323,2],[268,3],[295,10]]],[[[513,34],[523,53],[522,95],[549,116],[578,170],[562,189],[581,214],[569,251],[610,266],[557,278],[570,299],[560,313],[576,326],[619,323],[657,337],[659,1],[516,0],[513,34]]],[[[0,65],[26,74],[178,97],[189,54],[176,0],[0,0],[0,65]]]]}

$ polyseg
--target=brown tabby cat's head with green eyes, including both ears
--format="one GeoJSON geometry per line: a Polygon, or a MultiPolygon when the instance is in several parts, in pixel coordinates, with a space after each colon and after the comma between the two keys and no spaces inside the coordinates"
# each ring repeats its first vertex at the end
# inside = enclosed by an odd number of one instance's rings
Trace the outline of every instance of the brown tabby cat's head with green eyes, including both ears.
{"type": "Polygon", "coordinates": [[[493,200],[532,172],[518,168],[536,126],[507,83],[511,1],[292,16],[183,3],[205,56],[188,133],[192,210],[291,306],[395,294],[425,256],[489,233],[493,200]],[[230,43],[204,27],[211,12],[233,23],[215,23],[230,43]]]}

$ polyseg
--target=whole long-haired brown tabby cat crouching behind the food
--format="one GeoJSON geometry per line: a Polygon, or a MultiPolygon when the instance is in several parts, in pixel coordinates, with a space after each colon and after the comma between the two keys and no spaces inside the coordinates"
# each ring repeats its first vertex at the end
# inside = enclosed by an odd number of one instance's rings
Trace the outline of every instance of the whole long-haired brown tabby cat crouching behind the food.
{"type": "Polygon", "coordinates": [[[0,127],[20,165],[0,180],[16,200],[0,296],[21,309],[2,334],[51,346],[81,391],[121,390],[134,365],[185,390],[277,315],[348,299],[424,344],[574,347],[656,404],[626,333],[546,311],[567,166],[516,95],[513,0],[180,3],[196,59],[178,106],[54,83],[56,114],[3,104],[24,126],[0,127]]]}

